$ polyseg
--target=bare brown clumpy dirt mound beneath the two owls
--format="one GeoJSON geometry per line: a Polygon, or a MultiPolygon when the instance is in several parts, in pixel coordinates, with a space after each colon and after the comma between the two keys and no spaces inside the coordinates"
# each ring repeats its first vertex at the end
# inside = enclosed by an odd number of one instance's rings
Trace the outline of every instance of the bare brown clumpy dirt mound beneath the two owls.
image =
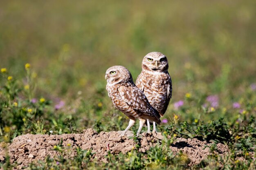
{"type": "MultiPolygon", "coordinates": [[[[94,157],[102,161],[106,161],[104,156],[108,150],[112,154],[119,152],[126,153],[135,147],[136,143],[129,137],[133,135],[128,131],[125,137],[119,137],[121,131],[115,132],[100,132],[97,133],[93,129],[84,130],[83,134],[63,134],[63,135],[22,135],[13,139],[13,142],[8,145],[8,152],[11,163],[16,162],[17,168],[27,166],[34,160],[44,160],[47,155],[54,157],[58,155],[56,150],[53,150],[55,145],[63,141],[63,147],[72,147],[74,152],[71,157],[76,154],[76,147],[79,146],[83,150],[92,149],[95,152],[94,157]]],[[[157,141],[161,143],[163,136],[161,133],[147,134],[142,133],[140,138],[141,148],[139,151],[146,152],[151,146],[155,146],[157,141]]],[[[170,138],[170,137],[169,137],[170,138]]],[[[190,159],[190,165],[198,164],[208,155],[210,155],[211,143],[200,141],[198,139],[177,138],[171,145],[171,150],[174,153],[183,151],[190,159]]],[[[228,147],[223,144],[217,144],[220,155],[229,152],[228,147]]],[[[0,146],[0,161],[5,160],[5,149],[0,146]]]]}

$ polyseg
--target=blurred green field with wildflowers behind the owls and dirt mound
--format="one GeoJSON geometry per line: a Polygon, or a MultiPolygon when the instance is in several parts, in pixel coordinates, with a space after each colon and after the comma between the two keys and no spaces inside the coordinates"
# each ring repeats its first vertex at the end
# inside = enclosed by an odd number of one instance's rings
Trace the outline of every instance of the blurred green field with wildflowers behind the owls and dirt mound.
{"type": "Polygon", "coordinates": [[[123,65],[135,81],[151,51],[167,56],[173,80],[160,131],[173,121],[242,124],[256,115],[255,16],[253,0],[1,0],[1,141],[27,132],[123,130],[128,119],[107,95],[105,71],[123,65]],[[212,95],[216,107],[207,101],[212,95]]]}

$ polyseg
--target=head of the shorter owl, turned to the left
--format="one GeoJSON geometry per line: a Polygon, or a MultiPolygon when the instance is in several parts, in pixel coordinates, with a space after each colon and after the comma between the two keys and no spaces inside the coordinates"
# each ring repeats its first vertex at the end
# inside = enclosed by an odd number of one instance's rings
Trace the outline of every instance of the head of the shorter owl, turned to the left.
{"type": "Polygon", "coordinates": [[[105,79],[108,84],[113,85],[132,81],[132,75],[124,66],[112,66],[106,71],[105,79]]]}

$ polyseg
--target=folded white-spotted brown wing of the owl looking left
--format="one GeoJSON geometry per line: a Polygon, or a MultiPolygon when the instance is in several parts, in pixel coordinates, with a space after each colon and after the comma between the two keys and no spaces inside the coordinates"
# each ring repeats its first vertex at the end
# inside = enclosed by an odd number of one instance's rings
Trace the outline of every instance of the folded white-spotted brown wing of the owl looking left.
{"type": "Polygon", "coordinates": [[[118,91],[122,99],[133,109],[136,113],[143,113],[146,119],[155,121],[158,124],[161,122],[159,113],[148,102],[144,93],[137,88],[137,86],[120,86],[118,91]]]}

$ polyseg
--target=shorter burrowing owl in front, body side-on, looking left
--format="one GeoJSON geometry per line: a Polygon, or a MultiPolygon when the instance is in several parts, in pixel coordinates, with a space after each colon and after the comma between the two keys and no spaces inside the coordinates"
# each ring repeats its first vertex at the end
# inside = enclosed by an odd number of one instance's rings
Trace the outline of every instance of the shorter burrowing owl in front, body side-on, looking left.
{"type": "Polygon", "coordinates": [[[146,119],[160,124],[159,113],[150,105],[143,92],[135,86],[128,69],[124,66],[112,66],[106,71],[105,79],[107,80],[108,96],[116,108],[130,119],[129,125],[121,136],[124,136],[134,125],[136,118],[139,119],[137,135],[139,135],[146,119]]]}

